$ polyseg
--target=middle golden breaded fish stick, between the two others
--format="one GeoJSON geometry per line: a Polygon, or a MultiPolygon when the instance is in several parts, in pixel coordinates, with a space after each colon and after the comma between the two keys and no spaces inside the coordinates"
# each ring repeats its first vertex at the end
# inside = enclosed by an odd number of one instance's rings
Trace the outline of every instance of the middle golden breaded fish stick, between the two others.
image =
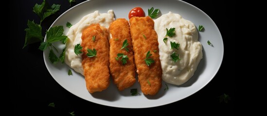
{"type": "Polygon", "coordinates": [[[112,22],[109,26],[110,40],[109,40],[109,69],[114,84],[118,89],[124,90],[131,87],[135,83],[135,64],[132,50],[132,39],[130,35],[129,23],[124,18],[119,18],[112,22]],[[121,49],[124,41],[127,40],[129,49],[121,49]],[[121,58],[116,60],[117,54],[123,53],[127,55],[128,60],[125,64],[122,63],[121,58]]]}

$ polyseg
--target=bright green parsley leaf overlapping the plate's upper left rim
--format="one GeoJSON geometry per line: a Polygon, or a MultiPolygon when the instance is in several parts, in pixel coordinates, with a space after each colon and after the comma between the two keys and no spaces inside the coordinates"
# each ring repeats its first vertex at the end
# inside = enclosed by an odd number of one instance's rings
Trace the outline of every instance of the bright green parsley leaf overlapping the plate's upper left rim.
{"type": "Polygon", "coordinates": [[[63,41],[67,36],[63,35],[63,26],[55,26],[46,31],[46,38],[48,43],[63,41]]]}

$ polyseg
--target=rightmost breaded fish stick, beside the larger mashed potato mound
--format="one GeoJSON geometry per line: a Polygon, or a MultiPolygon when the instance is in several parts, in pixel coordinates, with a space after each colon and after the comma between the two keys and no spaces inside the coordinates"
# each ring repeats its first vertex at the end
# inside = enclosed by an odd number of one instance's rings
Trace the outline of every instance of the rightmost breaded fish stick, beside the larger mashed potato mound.
{"type": "Polygon", "coordinates": [[[138,82],[143,94],[155,95],[161,87],[162,69],[158,35],[154,30],[154,21],[149,16],[146,16],[132,17],[129,22],[138,82]],[[148,51],[152,54],[150,58],[155,61],[150,66],[147,66],[144,61],[148,51]]]}

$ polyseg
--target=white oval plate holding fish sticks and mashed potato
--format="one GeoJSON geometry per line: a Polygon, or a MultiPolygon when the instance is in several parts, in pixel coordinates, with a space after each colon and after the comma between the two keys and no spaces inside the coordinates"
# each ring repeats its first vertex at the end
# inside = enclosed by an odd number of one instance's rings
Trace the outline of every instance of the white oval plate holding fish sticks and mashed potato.
{"type": "MultiPolygon", "coordinates": [[[[161,14],[166,14],[171,11],[192,21],[197,28],[199,25],[205,27],[204,32],[199,32],[199,41],[203,45],[203,59],[200,61],[195,75],[188,82],[181,86],[168,84],[169,89],[165,91],[165,83],[162,82],[162,87],[157,95],[144,96],[138,82],[124,91],[118,91],[117,87],[113,84],[112,79],[110,79],[110,86],[106,90],[90,94],[86,89],[84,76],[73,70],[73,75],[69,76],[68,70],[71,68],[61,63],[57,63],[56,65],[52,64],[48,59],[49,50],[45,50],[45,65],[55,81],[72,94],[90,102],[122,108],[147,108],[165,105],[184,99],[200,90],[213,79],[219,70],[223,59],[224,47],[220,31],[214,21],[207,14],[184,1],[88,0],[72,7],[60,15],[51,27],[62,25],[64,27],[64,34],[66,34],[69,30],[69,28],[66,27],[67,22],[76,24],[84,15],[93,13],[96,10],[100,13],[107,13],[108,10],[112,9],[116,18],[128,19],[128,13],[134,7],[142,7],[146,15],[148,14],[147,9],[151,7],[159,8],[161,14]],[[208,40],[214,46],[208,45],[208,40]],[[131,96],[130,89],[132,88],[137,88],[141,95],[131,96]]],[[[59,44],[55,45],[57,47],[63,47],[59,44]]]]}

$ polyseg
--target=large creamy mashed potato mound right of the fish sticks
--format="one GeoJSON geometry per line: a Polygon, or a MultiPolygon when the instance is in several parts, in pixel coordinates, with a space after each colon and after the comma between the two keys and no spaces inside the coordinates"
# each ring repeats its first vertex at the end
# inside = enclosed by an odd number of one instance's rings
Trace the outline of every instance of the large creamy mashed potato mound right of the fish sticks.
{"type": "Polygon", "coordinates": [[[191,21],[171,12],[154,21],[160,48],[162,80],[174,85],[184,84],[194,75],[202,59],[202,45],[198,42],[196,27],[191,21]],[[176,35],[168,37],[165,44],[163,38],[166,37],[166,28],[175,28],[176,35]],[[180,43],[179,50],[171,49],[170,42],[180,43]],[[171,58],[173,52],[179,54],[180,60],[177,62],[171,58]]]}

